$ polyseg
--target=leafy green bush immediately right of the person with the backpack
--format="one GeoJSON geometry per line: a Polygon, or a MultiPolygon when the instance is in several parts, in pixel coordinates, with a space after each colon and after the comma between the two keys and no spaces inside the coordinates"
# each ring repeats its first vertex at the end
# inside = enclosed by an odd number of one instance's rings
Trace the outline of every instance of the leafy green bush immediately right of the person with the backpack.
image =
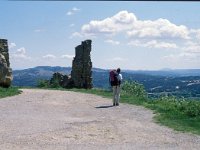
{"type": "Polygon", "coordinates": [[[122,95],[140,97],[140,98],[147,98],[147,92],[144,89],[142,84],[139,84],[134,81],[125,81],[121,87],[122,95]]]}

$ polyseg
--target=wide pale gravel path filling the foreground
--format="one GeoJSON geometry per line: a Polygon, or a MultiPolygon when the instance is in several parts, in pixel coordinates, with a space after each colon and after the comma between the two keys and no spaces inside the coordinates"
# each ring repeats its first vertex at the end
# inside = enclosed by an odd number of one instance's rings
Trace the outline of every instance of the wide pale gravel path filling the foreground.
{"type": "Polygon", "coordinates": [[[91,94],[23,89],[0,99],[0,149],[200,149],[200,136],[154,123],[152,111],[111,104],[91,94]]]}

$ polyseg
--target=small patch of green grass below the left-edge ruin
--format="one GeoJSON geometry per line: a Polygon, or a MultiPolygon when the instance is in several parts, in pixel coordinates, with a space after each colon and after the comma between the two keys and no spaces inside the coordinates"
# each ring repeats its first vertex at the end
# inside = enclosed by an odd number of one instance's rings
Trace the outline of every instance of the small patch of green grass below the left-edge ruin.
{"type": "Polygon", "coordinates": [[[21,91],[17,87],[9,87],[9,88],[0,87],[0,98],[14,96],[20,93],[21,91]]]}

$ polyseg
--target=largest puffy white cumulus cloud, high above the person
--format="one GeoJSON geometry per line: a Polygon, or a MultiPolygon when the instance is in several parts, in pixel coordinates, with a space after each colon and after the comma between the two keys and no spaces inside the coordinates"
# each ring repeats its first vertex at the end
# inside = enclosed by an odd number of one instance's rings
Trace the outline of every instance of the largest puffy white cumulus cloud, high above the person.
{"type": "Polygon", "coordinates": [[[130,38],[180,38],[189,39],[189,30],[167,19],[139,20],[134,13],[120,11],[103,20],[92,20],[81,28],[81,34],[115,35],[126,33],[130,38]]]}

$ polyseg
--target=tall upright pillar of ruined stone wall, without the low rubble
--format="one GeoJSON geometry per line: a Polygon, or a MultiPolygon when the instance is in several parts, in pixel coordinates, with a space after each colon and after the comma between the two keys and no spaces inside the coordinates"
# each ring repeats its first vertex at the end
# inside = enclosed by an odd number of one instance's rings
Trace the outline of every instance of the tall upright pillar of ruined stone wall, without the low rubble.
{"type": "Polygon", "coordinates": [[[92,88],[91,40],[85,40],[75,48],[71,78],[77,88],[92,88]]]}

